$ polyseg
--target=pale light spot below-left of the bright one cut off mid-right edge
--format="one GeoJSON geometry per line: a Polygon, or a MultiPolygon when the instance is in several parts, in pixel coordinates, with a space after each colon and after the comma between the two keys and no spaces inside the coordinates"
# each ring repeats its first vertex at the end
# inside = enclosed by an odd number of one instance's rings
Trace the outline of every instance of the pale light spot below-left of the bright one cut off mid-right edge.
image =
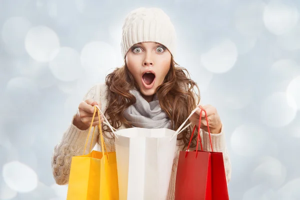
{"type": "Polygon", "coordinates": [[[295,102],[288,101],[285,92],[275,92],[267,96],[260,110],[261,120],[270,127],[283,127],[289,124],[296,115],[295,102]]]}

